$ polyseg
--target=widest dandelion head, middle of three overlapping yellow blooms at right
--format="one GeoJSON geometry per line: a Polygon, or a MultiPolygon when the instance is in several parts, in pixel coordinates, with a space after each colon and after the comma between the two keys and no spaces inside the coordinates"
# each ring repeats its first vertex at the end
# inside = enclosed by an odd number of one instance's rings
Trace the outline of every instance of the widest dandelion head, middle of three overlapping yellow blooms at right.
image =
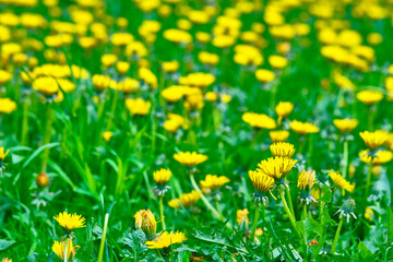
{"type": "Polygon", "coordinates": [[[267,160],[262,160],[258,164],[258,167],[261,168],[265,175],[274,178],[276,182],[282,182],[282,179],[285,178],[296,163],[296,159],[270,157],[267,160]]]}

